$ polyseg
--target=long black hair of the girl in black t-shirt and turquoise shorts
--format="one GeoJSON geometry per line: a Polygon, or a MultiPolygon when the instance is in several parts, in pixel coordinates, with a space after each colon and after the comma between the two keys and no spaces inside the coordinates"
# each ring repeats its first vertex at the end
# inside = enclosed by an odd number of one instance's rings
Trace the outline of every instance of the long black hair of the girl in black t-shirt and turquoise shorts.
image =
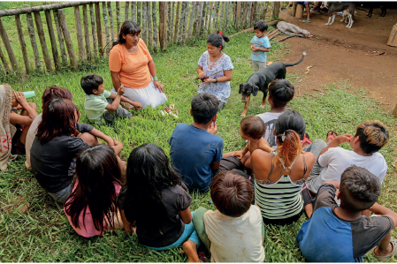
{"type": "Polygon", "coordinates": [[[161,192],[165,187],[175,185],[184,186],[161,147],[151,143],[136,147],[126,166],[125,214],[128,222],[161,228],[168,215],[161,192]]]}

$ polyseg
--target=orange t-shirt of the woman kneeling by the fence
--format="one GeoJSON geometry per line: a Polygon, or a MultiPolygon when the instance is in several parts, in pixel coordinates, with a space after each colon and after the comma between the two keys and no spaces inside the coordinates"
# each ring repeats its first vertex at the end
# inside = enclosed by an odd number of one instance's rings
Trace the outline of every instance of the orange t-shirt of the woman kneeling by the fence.
{"type": "Polygon", "coordinates": [[[149,50],[141,39],[138,51],[128,53],[124,44],[118,44],[109,53],[109,69],[119,72],[118,78],[125,87],[141,89],[149,86],[151,77],[148,64],[153,60],[149,50]]]}

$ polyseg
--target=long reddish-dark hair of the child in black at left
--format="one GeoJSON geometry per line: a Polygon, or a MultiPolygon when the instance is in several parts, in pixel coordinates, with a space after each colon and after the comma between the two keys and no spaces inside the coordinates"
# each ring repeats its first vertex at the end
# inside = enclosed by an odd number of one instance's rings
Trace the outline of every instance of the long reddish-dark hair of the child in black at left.
{"type": "Polygon", "coordinates": [[[42,108],[42,122],[36,133],[40,142],[45,143],[62,135],[77,137],[76,113],[80,117],[79,109],[72,101],[55,98],[47,102],[42,108]]]}

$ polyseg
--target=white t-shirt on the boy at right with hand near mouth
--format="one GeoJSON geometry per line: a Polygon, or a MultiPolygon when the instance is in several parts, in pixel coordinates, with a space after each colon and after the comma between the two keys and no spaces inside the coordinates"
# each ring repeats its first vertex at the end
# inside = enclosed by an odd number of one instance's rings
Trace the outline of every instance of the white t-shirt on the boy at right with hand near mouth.
{"type": "Polygon", "coordinates": [[[387,163],[383,155],[376,152],[370,156],[358,155],[343,147],[331,147],[318,157],[318,164],[324,167],[320,175],[309,183],[309,190],[318,191],[324,181],[340,181],[342,173],[350,166],[362,167],[378,177],[380,183],[386,176],[387,163]]]}

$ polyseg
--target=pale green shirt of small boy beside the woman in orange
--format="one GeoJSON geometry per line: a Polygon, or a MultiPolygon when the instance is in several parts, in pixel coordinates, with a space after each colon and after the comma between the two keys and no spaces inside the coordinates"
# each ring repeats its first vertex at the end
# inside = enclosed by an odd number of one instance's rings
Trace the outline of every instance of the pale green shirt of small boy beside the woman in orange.
{"type": "Polygon", "coordinates": [[[86,109],[86,114],[90,122],[101,124],[103,112],[109,104],[106,98],[109,96],[111,96],[111,92],[106,90],[100,95],[86,94],[84,108],[86,109]]]}

